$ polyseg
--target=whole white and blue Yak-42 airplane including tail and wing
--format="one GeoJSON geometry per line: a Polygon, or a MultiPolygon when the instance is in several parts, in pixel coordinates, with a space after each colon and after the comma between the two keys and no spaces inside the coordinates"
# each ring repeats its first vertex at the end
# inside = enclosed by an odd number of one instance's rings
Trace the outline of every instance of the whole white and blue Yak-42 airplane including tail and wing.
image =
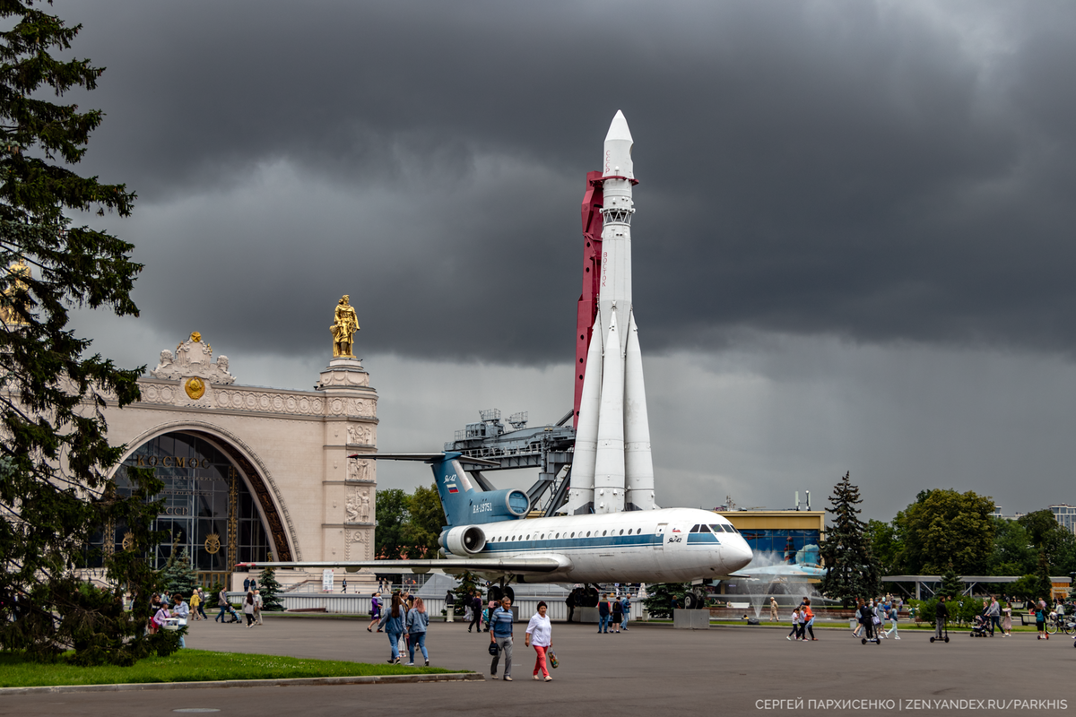
{"type": "MultiPolygon", "coordinates": [[[[431,569],[470,571],[501,588],[516,583],[702,583],[727,577],[751,562],[747,541],[725,518],[696,508],[530,518],[522,490],[483,490],[463,463],[497,465],[462,454],[372,454],[351,458],[429,463],[448,526],[442,559],[251,562],[247,568],[431,569]]],[[[695,606],[702,591],[689,593],[695,606]]],[[[690,603],[690,604],[689,604],[690,603]]]]}

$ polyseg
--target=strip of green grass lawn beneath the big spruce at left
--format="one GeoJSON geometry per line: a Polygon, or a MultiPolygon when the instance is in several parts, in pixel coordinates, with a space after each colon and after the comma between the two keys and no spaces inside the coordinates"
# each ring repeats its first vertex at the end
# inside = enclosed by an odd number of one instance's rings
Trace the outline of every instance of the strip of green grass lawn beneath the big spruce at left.
{"type": "Polygon", "coordinates": [[[211,653],[181,649],[170,657],[153,657],[130,668],[79,668],[63,662],[42,664],[0,653],[0,687],[46,685],[111,685],[117,683],[194,683],[212,679],[279,679],[282,677],[354,677],[469,672],[441,668],[405,668],[339,660],[306,660],[275,655],[211,653]]]}

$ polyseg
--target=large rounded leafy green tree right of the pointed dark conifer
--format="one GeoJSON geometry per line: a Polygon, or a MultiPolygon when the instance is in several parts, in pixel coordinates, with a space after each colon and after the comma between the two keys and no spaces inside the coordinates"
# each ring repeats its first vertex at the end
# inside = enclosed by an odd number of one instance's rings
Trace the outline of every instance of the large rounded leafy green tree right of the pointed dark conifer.
{"type": "Polygon", "coordinates": [[[904,546],[903,563],[911,574],[939,574],[952,562],[963,575],[986,572],[993,550],[994,501],[973,491],[937,488],[919,493],[893,524],[904,546]]]}

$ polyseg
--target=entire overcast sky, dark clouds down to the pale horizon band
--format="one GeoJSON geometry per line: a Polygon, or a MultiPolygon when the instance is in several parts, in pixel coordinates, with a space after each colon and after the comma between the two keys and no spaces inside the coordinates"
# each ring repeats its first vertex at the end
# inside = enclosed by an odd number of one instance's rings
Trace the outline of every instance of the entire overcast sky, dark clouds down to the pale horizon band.
{"type": "Polygon", "coordinates": [[[117,360],[197,329],[309,388],[350,292],[382,448],[557,419],[620,109],[662,504],[818,506],[849,470],[869,517],[1076,503],[1072,3],[55,8],[108,68],[82,169],[139,193],[104,224],[142,317],[79,319],[117,360]]]}

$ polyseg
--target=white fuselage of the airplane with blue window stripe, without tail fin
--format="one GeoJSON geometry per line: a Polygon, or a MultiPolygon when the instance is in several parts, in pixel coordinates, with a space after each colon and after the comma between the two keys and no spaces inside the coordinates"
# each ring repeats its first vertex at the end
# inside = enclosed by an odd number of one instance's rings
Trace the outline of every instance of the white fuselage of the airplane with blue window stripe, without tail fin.
{"type": "MultiPolygon", "coordinates": [[[[550,558],[562,563],[554,572],[520,576],[526,583],[718,578],[741,570],[752,557],[751,548],[727,519],[697,508],[504,520],[477,527],[485,536],[480,550],[447,550],[445,555],[484,561],[550,558]]],[[[489,571],[475,572],[496,576],[489,571]]]]}

